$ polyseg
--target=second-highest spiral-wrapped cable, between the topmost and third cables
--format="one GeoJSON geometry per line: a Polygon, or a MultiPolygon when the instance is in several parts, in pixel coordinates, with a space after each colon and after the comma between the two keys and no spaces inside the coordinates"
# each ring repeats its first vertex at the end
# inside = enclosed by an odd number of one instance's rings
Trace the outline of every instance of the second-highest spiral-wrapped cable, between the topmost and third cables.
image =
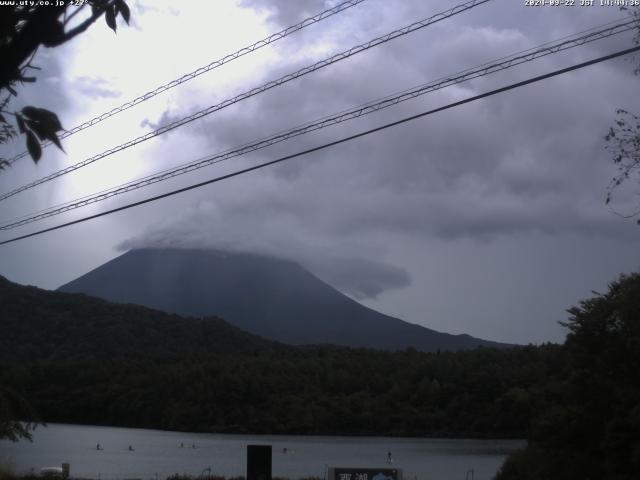
{"type": "Polygon", "coordinates": [[[23,185],[21,187],[16,188],[15,190],[12,190],[8,193],[4,193],[2,195],[0,195],[0,201],[1,200],[6,200],[7,198],[10,198],[14,195],[17,195],[20,192],[23,192],[25,190],[28,190],[30,188],[36,187],[38,185],[41,185],[45,182],[51,181],[55,178],[61,177],[62,175],[65,175],[67,173],[73,172],[75,170],[78,170],[79,168],[82,168],[86,165],[89,165],[91,163],[94,163],[102,158],[105,158],[109,155],[112,155],[114,153],[120,152],[122,150],[125,150],[129,147],[132,147],[134,145],[137,145],[139,143],[142,143],[146,140],[149,140],[151,138],[157,137],[158,135],[162,135],[164,133],[169,132],[170,130],[173,130],[175,128],[181,127],[182,125],[185,125],[187,123],[193,122],[194,120],[198,120],[206,115],[209,115],[211,113],[214,113],[218,110],[222,110],[223,108],[226,108],[230,105],[233,105],[237,102],[240,102],[242,100],[245,100],[247,98],[253,97],[255,95],[258,95],[259,93],[263,93],[267,90],[270,90],[274,87],[278,87],[280,85],[283,85],[287,82],[290,82],[291,80],[294,80],[296,78],[302,77],[308,73],[314,72],[316,70],[319,70],[321,68],[324,68],[326,66],[332,65],[333,63],[339,62],[341,60],[344,60],[346,58],[349,58],[353,55],[356,55],[360,52],[364,52],[366,50],[369,50],[370,48],[376,47],[378,45],[382,45],[383,43],[389,42],[395,38],[401,37],[403,35],[407,35],[411,32],[414,32],[416,30],[425,28],[429,25],[432,25],[436,22],[445,20],[449,17],[452,17],[454,15],[457,15],[459,13],[465,12],[467,10],[470,10],[478,5],[481,5],[483,3],[487,3],[490,2],[491,0],[470,0],[466,3],[457,5],[449,10],[446,10],[444,12],[440,12],[437,13],[427,19],[424,20],[420,20],[418,22],[414,22],[411,25],[408,25],[406,27],[400,28],[398,30],[394,30],[393,32],[387,33],[386,35],[374,38],[373,40],[370,40],[366,43],[357,45],[355,47],[350,48],[349,50],[345,50],[344,52],[338,53],[336,55],[333,55],[325,60],[322,60],[320,62],[317,62],[311,66],[307,66],[304,67],[294,73],[290,73],[287,75],[284,75],[280,78],[278,78],[277,80],[272,80],[260,87],[256,87],[253,88],[251,90],[248,90],[240,95],[237,95],[231,99],[225,100],[221,103],[218,103],[216,105],[212,105],[208,108],[205,108],[204,110],[200,110],[199,112],[196,112],[192,115],[189,115],[187,117],[184,117],[180,120],[176,120],[175,122],[170,123],[169,125],[166,125],[164,127],[160,127],[157,130],[154,130],[152,132],[146,133],[145,135],[141,135],[133,140],[129,140],[126,143],[120,144],[116,147],[110,148],[109,150],[106,150],[98,155],[95,155],[93,157],[90,157],[86,160],[83,160],[81,162],[75,163],[74,165],[71,165],[67,168],[64,168],[62,170],[58,170],[57,172],[54,172],[50,175],[47,175],[46,177],[42,177],[34,182],[28,183],[26,185],[23,185]]]}

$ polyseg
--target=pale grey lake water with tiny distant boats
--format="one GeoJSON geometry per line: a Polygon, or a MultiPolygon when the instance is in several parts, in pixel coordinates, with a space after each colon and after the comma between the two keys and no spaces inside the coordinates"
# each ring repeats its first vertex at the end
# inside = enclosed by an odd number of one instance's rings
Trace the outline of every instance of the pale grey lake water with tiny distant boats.
{"type": "Polygon", "coordinates": [[[488,480],[524,442],[217,435],[49,424],[38,427],[33,443],[0,441],[0,464],[22,473],[69,463],[71,476],[100,480],[163,480],[175,473],[208,474],[209,468],[212,474],[230,477],[246,475],[250,444],[272,445],[273,475],[291,479],[325,478],[327,467],[388,468],[387,452],[391,452],[392,466],[403,470],[405,480],[465,480],[471,469],[475,480],[488,480]]]}

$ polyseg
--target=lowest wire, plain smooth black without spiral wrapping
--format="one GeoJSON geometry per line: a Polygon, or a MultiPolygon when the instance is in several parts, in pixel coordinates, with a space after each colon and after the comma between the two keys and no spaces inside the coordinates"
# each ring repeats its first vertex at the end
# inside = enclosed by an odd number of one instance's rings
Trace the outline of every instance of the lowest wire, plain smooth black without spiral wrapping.
{"type": "Polygon", "coordinates": [[[107,211],[104,211],[104,212],[101,212],[101,213],[97,213],[95,215],[90,215],[88,217],[79,218],[79,219],[73,220],[71,222],[67,222],[67,223],[63,223],[63,224],[60,224],[60,225],[56,225],[54,227],[45,228],[43,230],[38,230],[36,232],[28,233],[26,235],[21,235],[19,237],[14,237],[14,238],[11,238],[9,240],[4,240],[4,241],[0,242],[0,245],[6,245],[8,243],[17,242],[18,240],[24,240],[26,238],[34,237],[36,235],[41,235],[43,233],[52,232],[54,230],[59,230],[61,228],[69,227],[71,225],[76,225],[78,223],[86,222],[88,220],[93,220],[93,219],[96,219],[96,218],[99,218],[99,217],[104,217],[104,216],[110,215],[112,213],[121,212],[123,210],[128,210],[129,208],[138,207],[138,206],[144,205],[146,203],[155,202],[157,200],[161,200],[163,198],[171,197],[171,196],[177,195],[179,193],[184,193],[184,192],[187,192],[189,190],[194,190],[196,188],[204,187],[205,185],[210,185],[212,183],[217,183],[217,182],[220,182],[222,180],[227,180],[229,178],[236,177],[238,175],[249,173],[249,172],[252,172],[254,170],[259,170],[261,168],[268,167],[270,165],[275,165],[277,163],[284,162],[286,160],[291,160],[293,158],[301,157],[303,155],[308,155],[310,153],[314,153],[314,152],[317,152],[317,151],[320,151],[320,150],[324,150],[326,148],[333,147],[335,145],[339,145],[341,143],[349,142],[351,140],[355,140],[357,138],[364,137],[364,136],[370,135],[372,133],[376,133],[376,132],[385,130],[387,128],[395,127],[397,125],[401,125],[403,123],[407,123],[407,122],[416,120],[418,118],[426,117],[426,116],[432,115],[434,113],[442,112],[442,111],[448,110],[450,108],[458,107],[458,106],[464,105],[466,103],[474,102],[474,101],[480,100],[482,98],[486,98],[486,97],[490,97],[490,96],[493,96],[493,95],[497,95],[499,93],[503,93],[503,92],[506,92],[506,91],[509,91],[509,90],[520,88],[520,87],[523,87],[525,85],[529,85],[529,84],[532,84],[532,83],[540,82],[542,80],[546,80],[546,79],[551,78],[551,77],[562,75],[564,73],[568,73],[568,72],[571,72],[573,70],[578,70],[578,69],[581,69],[581,68],[585,68],[585,67],[590,66],[590,65],[595,65],[597,63],[604,62],[606,60],[611,60],[611,59],[616,58],[616,57],[620,57],[620,56],[623,56],[623,55],[628,55],[630,53],[637,52],[638,50],[640,50],[640,46],[633,47],[633,48],[628,48],[626,50],[621,50],[621,51],[618,51],[616,53],[612,53],[610,55],[605,55],[605,56],[602,56],[602,57],[599,57],[599,58],[596,58],[596,59],[593,59],[593,60],[589,60],[587,62],[582,62],[582,63],[576,64],[576,65],[572,65],[570,67],[562,68],[560,70],[555,70],[553,72],[546,73],[544,75],[539,75],[537,77],[533,77],[533,78],[530,78],[528,80],[523,80],[521,82],[513,83],[511,85],[507,85],[506,87],[501,87],[501,88],[498,88],[498,89],[495,89],[495,90],[491,90],[489,92],[482,93],[480,95],[476,95],[476,96],[473,96],[473,97],[466,98],[464,100],[453,102],[453,103],[450,103],[450,104],[445,105],[443,107],[435,108],[433,110],[422,112],[422,113],[419,113],[417,115],[412,115],[410,117],[405,117],[405,118],[403,118],[401,120],[397,120],[395,122],[387,123],[385,125],[381,125],[379,127],[372,128],[370,130],[366,130],[366,131],[363,131],[363,132],[360,132],[360,133],[356,133],[354,135],[350,135],[348,137],[344,137],[344,138],[341,138],[339,140],[335,140],[333,142],[325,143],[323,145],[319,145],[317,147],[313,147],[313,148],[310,148],[310,149],[307,149],[307,150],[304,150],[304,151],[301,151],[301,152],[298,152],[298,153],[294,153],[292,155],[287,155],[287,156],[284,156],[284,157],[280,157],[280,158],[277,158],[275,160],[271,160],[269,162],[261,163],[259,165],[254,165],[253,167],[248,167],[248,168],[245,168],[245,169],[242,169],[242,170],[238,170],[238,171],[233,172],[233,173],[229,173],[227,175],[222,175],[222,176],[219,176],[219,177],[215,177],[215,178],[209,179],[209,180],[204,181],[204,182],[200,182],[200,183],[196,183],[196,184],[193,184],[193,185],[189,185],[188,187],[183,187],[183,188],[179,188],[177,190],[172,190],[170,192],[166,192],[166,193],[163,193],[161,195],[156,195],[154,197],[149,197],[149,198],[146,198],[144,200],[140,200],[138,202],[129,203],[127,205],[123,205],[123,206],[118,207],[118,208],[114,208],[114,209],[107,210],[107,211]]]}

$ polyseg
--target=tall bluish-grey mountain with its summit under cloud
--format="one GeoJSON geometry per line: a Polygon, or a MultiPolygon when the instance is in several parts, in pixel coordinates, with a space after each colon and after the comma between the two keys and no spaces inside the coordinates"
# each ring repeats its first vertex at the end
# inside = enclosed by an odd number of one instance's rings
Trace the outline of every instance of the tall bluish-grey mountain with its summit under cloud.
{"type": "Polygon", "coordinates": [[[510,345],[450,335],[367,308],[300,265],[213,250],[131,250],[59,288],[184,316],[215,315],[292,345],[463,350],[510,345]]]}

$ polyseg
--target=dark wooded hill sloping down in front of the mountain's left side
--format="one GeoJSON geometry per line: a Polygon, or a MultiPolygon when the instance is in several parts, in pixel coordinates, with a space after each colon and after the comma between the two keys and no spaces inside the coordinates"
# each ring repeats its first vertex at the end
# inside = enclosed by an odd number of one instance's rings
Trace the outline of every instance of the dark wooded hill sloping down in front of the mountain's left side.
{"type": "Polygon", "coordinates": [[[281,348],[219,318],[25,287],[0,276],[0,361],[252,352],[281,348]]]}

